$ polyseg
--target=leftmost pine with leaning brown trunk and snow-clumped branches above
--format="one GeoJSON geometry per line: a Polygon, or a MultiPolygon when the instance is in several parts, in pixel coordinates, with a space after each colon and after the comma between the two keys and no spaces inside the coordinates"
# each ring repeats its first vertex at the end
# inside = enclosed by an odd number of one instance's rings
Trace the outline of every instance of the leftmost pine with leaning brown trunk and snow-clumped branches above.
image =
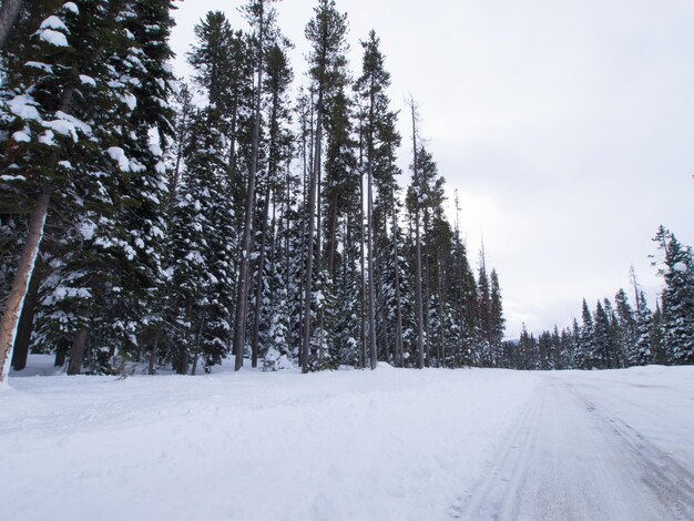
{"type": "MultiPolygon", "coordinates": [[[[6,3],[3,16],[10,7],[6,3]]],[[[84,94],[82,91],[90,91],[91,86],[82,85],[80,74],[93,80],[96,72],[101,76],[108,73],[103,62],[90,63],[103,58],[95,38],[102,27],[94,10],[93,2],[76,12],[34,4],[22,27],[17,28],[18,42],[10,45],[11,54],[3,55],[4,103],[0,119],[8,133],[2,143],[7,152],[1,164],[6,175],[0,202],[6,215],[29,214],[29,233],[0,323],[0,384],[7,380],[9,372],[17,325],[39,255],[51,198],[55,206],[62,202],[60,196],[69,192],[72,181],[69,174],[73,167],[68,159],[72,151],[83,149],[83,153],[92,155],[94,152],[88,141],[93,136],[93,129],[80,120],[86,115],[85,100],[80,106],[75,103],[78,94],[84,94]]],[[[8,22],[14,18],[9,17],[8,22]]],[[[90,94],[113,102],[103,88],[95,88],[90,94]]],[[[70,202],[65,205],[69,207],[70,202]]]]}

